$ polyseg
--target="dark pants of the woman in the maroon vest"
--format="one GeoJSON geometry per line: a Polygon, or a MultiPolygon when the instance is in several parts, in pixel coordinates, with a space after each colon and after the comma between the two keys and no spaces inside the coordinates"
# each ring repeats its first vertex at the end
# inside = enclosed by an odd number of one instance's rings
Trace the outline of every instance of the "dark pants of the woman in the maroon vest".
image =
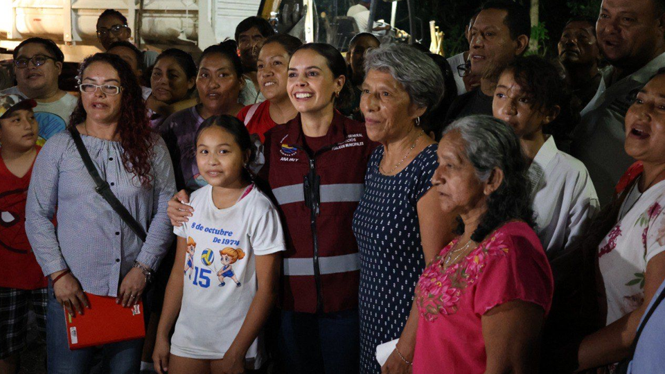
{"type": "Polygon", "coordinates": [[[278,346],[289,374],[357,374],[360,371],[358,310],[281,312],[278,346]]]}

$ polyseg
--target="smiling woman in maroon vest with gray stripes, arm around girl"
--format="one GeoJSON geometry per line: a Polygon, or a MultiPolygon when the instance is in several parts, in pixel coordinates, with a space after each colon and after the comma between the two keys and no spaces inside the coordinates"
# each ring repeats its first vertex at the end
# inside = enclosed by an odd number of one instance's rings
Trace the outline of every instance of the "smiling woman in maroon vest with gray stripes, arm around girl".
{"type": "MultiPolygon", "coordinates": [[[[292,55],[287,91],[299,114],[265,133],[267,181],[278,204],[284,256],[279,355],[287,373],[353,373],[359,369],[358,248],[351,230],[377,143],[364,125],[335,107],[351,100],[344,57],[328,44],[292,55]]],[[[174,224],[187,206],[170,202],[174,224]]]]}

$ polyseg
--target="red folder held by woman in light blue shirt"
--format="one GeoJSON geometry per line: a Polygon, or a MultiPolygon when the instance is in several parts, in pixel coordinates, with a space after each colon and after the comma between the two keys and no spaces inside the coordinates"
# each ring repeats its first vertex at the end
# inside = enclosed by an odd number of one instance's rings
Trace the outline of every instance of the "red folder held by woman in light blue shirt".
{"type": "Polygon", "coordinates": [[[116,298],[97,296],[86,292],[90,309],[72,316],[64,311],[69,349],[116,343],[145,337],[143,304],[130,308],[116,304],[116,298]]]}

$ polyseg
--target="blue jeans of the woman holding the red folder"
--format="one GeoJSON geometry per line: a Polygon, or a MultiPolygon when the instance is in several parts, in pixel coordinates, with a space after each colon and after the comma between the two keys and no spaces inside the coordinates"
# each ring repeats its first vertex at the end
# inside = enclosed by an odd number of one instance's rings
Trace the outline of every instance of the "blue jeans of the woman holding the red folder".
{"type": "Polygon", "coordinates": [[[53,288],[48,287],[46,310],[46,357],[48,374],[89,373],[93,357],[101,350],[103,373],[136,374],[141,368],[143,339],[121,341],[103,346],[69,350],[67,326],[64,323],[62,305],[53,298],[53,288]]]}

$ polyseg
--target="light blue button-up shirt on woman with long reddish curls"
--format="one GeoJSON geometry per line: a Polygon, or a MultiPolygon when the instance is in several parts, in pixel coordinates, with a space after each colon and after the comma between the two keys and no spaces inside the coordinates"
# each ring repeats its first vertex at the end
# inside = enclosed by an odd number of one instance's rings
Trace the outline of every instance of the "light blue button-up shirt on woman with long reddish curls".
{"type": "Polygon", "coordinates": [[[168,251],[172,226],[166,208],[175,193],[173,167],[159,139],[151,160],[152,186],[144,188],[125,170],[120,142],[81,138],[100,177],[148,233],[145,243],[96,192],[69,132],[55,134],[37,156],[26,233],[44,274],[69,268],[85,292],[116,296],[134,260],[157,269],[168,251]],[[57,228],[51,222],[56,206],[57,228]]]}

